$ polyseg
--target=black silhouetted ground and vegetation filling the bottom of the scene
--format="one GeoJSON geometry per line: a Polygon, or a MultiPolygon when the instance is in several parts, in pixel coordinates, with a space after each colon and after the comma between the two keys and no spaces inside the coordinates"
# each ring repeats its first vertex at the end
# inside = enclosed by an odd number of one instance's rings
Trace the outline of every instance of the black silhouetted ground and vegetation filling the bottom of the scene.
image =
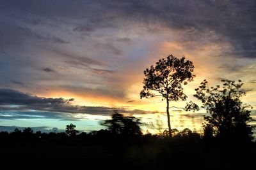
{"type": "Polygon", "coordinates": [[[205,139],[184,129],[168,136],[112,134],[108,130],[67,133],[0,133],[1,165],[29,167],[78,166],[105,169],[231,169],[250,167],[255,161],[252,141],[205,139]],[[10,164],[7,162],[15,162],[10,164]]]}

